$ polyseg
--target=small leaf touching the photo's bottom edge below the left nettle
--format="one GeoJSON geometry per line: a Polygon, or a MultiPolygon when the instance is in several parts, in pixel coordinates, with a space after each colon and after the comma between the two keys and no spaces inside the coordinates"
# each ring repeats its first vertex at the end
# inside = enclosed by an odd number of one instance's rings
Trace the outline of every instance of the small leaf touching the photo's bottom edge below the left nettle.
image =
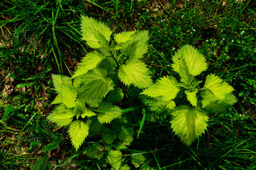
{"type": "Polygon", "coordinates": [[[113,169],[119,170],[122,162],[122,153],[119,150],[111,150],[107,156],[108,163],[113,169]]]}

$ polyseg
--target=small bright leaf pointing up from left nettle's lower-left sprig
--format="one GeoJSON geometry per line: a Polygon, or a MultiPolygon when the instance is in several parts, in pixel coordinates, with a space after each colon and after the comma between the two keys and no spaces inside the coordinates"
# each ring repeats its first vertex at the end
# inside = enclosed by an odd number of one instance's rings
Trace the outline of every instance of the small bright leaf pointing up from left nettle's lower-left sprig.
{"type": "Polygon", "coordinates": [[[64,103],[67,108],[73,108],[76,105],[77,89],[72,85],[62,84],[60,96],[62,96],[62,103],[64,103]]]}

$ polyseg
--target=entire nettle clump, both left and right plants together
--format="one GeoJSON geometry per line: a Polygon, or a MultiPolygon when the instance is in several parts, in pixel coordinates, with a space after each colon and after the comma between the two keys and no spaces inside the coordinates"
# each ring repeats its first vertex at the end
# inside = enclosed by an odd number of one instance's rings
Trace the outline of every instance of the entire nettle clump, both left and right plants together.
{"type": "MultiPolygon", "coordinates": [[[[204,56],[189,45],[172,57],[172,68],[179,73],[180,81],[167,76],[153,83],[152,72],[142,60],[148,51],[147,30],[111,37],[108,26],[85,16],[81,28],[82,39],[95,50],[87,53],[72,77],[52,75],[57,91],[52,104],[59,106],[48,119],[58,126],[69,126],[69,137],[76,150],[86,137],[101,134],[104,146],[96,142],[84,154],[99,159],[102,165],[107,162],[114,169],[130,169],[123,164],[125,158],[120,149],[126,149],[135,135],[128,112],[135,110],[131,108],[135,106],[135,97],[141,96],[145,103],[138,111],[148,107],[154,113],[172,115],[172,129],[187,145],[206,130],[206,111],[223,111],[235,103],[231,94],[234,89],[214,74],[208,75],[204,86],[199,87],[201,81],[195,77],[206,70],[207,64],[204,56]],[[176,106],[179,98],[187,98],[188,105],[176,106]]],[[[146,164],[146,159],[142,154],[134,154],[131,162],[138,167],[146,164]]]]}

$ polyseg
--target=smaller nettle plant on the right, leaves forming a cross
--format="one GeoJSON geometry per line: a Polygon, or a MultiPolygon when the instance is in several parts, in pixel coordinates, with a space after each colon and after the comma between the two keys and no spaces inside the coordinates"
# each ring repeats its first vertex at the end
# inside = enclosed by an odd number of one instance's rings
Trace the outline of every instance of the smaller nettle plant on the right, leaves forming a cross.
{"type": "Polygon", "coordinates": [[[234,89],[215,74],[208,75],[200,88],[202,81],[196,80],[196,76],[208,65],[204,55],[190,45],[179,49],[172,62],[172,69],[179,74],[180,80],[162,77],[142,94],[148,96],[144,102],[151,111],[172,115],[169,122],[172,130],[184,144],[191,145],[207,129],[207,113],[221,113],[236,102],[232,94],[234,89]],[[181,106],[176,106],[177,103],[181,106]]]}

